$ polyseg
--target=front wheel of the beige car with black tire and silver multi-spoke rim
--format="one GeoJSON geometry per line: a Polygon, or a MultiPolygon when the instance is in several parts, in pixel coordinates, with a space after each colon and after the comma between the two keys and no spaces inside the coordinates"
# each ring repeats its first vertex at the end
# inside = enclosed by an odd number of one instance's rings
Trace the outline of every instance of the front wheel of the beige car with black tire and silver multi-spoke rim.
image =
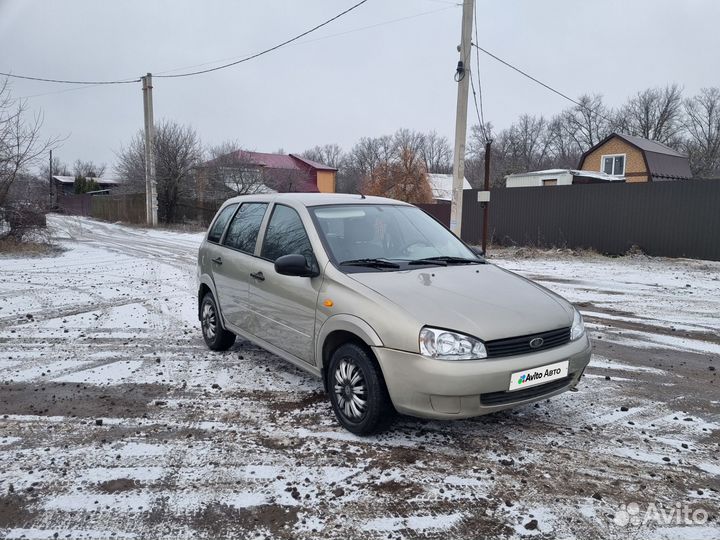
{"type": "Polygon", "coordinates": [[[390,424],[395,409],[380,368],[363,347],[338,347],[330,357],[327,377],[333,412],[345,429],[370,435],[390,424]]]}

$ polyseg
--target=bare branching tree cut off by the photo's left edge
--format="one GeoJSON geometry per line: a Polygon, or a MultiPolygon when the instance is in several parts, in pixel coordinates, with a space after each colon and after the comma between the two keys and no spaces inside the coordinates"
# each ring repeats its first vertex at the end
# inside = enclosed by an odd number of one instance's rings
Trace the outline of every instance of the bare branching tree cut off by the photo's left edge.
{"type": "Polygon", "coordinates": [[[27,101],[11,97],[7,79],[0,82],[0,207],[12,185],[58,142],[41,138],[41,114],[28,116],[27,101]]]}

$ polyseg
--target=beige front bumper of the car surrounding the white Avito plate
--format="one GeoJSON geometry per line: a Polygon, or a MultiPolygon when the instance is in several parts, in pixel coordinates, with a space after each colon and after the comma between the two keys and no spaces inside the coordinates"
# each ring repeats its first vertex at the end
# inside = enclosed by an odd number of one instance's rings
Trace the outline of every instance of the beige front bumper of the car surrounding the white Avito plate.
{"type": "Polygon", "coordinates": [[[398,412],[422,418],[469,418],[565,392],[577,385],[590,362],[587,335],[547,351],[497,358],[447,362],[419,354],[373,347],[390,399],[398,412]],[[563,379],[509,392],[510,375],[569,361],[563,379]]]}

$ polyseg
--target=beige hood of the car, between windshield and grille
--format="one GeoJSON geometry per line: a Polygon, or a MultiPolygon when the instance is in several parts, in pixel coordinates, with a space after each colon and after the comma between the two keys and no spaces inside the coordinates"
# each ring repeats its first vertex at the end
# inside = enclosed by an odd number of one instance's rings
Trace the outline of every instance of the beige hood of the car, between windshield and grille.
{"type": "Polygon", "coordinates": [[[572,306],[544,287],[492,264],[358,272],[352,279],[416,318],[483,341],[566,328],[572,306]]]}

